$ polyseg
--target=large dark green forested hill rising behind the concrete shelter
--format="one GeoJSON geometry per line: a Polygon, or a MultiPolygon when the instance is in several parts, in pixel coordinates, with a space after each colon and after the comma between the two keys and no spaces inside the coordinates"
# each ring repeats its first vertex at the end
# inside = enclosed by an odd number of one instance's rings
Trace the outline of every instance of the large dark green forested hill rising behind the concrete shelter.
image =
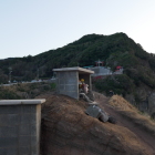
{"type": "Polygon", "coordinates": [[[155,54],[147,53],[125,33],[87,34],[35,56],[0,60],[0,83],[8,83],[10,75],[12,81],[52,78],[54,68],[94,65],[99,59],[113,71],[122,65],[124,74],[95,81],[93,84],[97,91],[108,95],[108,91],[113,90],[136,106],[144,104],[140,108],[148,112],[148,100],[155,94],[155,54]]]}

